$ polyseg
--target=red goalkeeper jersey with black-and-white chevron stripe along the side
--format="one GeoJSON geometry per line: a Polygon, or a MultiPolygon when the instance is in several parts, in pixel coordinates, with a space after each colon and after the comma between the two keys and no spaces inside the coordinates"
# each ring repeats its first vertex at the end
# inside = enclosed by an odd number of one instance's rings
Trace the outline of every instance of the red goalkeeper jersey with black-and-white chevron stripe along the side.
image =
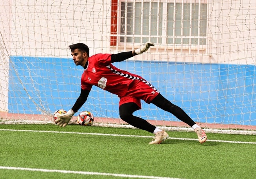
{"type": "Polygon", "coordinates": [[[81,78],[83,90],[98,86],[118,96],[124,96],[133,80],[141,76],[120,70],[111,64],[111,54],[96,54],[88,58],[87,68],[81,78]]]}

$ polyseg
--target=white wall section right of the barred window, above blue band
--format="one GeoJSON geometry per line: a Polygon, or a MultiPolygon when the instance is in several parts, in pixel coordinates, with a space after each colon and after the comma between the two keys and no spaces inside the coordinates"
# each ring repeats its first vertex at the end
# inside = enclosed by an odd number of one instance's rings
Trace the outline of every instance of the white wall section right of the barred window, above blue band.
{"type": "Polygon", "coordinates": [[[210,52],[216,63],[256,65],[256,1],[210,1],[210,52]]]}

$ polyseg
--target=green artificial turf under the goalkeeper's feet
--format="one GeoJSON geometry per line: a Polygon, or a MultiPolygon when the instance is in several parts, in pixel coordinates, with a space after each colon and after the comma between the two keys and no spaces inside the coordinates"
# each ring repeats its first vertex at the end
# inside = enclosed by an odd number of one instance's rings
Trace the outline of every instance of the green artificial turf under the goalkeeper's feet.
{"type": "MultiPolygon", "coordinates": [[[[148,142],[152,140],[153,135],[140,129],[80,125],[68,125],[65,128],[57,125],[0,125],[0,129],[15,129],[0,130],[0,166],[5,167],[142,175],[155,178],[256,177],[256,144],[221,141],[256,142],[255,135],[208,133],[209,141],[200,144],[197,140],[186,140],[196,139],[195,133],[167,131],[169,137],[174,139],[167,139],[160,145],[150,145],[148,142]],[[106,136],[95,133],[142,137],[106,136]]],[[[129,178],[91,173],[85,175],[7,169],[0,169],[0,176],[12,179],[129,178]]]]}

